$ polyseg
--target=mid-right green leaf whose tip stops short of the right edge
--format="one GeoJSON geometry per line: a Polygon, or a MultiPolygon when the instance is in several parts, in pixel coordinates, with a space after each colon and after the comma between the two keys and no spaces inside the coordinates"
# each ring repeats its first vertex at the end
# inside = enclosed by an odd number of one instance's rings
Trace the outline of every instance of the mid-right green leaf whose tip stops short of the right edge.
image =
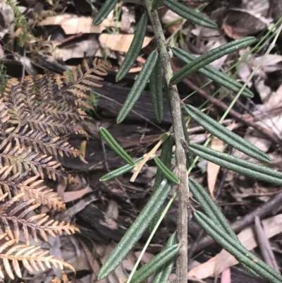
{"type": "Polygon", "coordinates": [[[186,105],[185,111],[189,114],[189,116],[197,121],[203,128],[205,128],[209,133],[216,136],[220,140],[223,140],[228,145],[232,145],[237,150],[244,152],[246,155],[254,157],[262,162],[271,162],[271,159],[265,152],[259,150],[255,145],[247,142],[242,137],[228,130],[228,128],[219,124],[219,122],[215,121],[204,112],[198,110],[191,105],[186,105]]]}

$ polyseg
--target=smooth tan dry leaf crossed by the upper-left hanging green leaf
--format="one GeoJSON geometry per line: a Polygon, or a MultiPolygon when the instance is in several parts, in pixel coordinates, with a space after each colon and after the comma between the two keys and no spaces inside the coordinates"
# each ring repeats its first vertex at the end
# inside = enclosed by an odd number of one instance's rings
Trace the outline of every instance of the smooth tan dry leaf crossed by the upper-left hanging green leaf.
{"type": "MultiPolygon", "coordinates": [[[[131,42],[133,41],[134,35],[108,35],[102,33],[99,36],[100,43],[113,51],[128,52],[131,42]]],[[[142,48],[146,47],[154,37],[145,37],[142,48]]]]}

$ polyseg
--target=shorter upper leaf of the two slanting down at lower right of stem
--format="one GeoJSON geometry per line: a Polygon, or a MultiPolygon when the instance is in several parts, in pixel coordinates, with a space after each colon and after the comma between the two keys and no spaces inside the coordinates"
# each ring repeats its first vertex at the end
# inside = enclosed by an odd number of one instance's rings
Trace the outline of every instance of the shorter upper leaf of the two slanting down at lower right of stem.
{"type": "Polygon", "coordinates": [[[239,241],[237,235],[227,222],[226,217],[224,217],[223,213],[219,210],[219,207],[217,207],[214,200],[212,200],[200,183],[189,178],[189,189],[194,198],[200,203],[205,214],[212,219],[216,225],[221,227],[221,229],[224,229],[229,236],[233,237],[236,241],[239,241]]]}

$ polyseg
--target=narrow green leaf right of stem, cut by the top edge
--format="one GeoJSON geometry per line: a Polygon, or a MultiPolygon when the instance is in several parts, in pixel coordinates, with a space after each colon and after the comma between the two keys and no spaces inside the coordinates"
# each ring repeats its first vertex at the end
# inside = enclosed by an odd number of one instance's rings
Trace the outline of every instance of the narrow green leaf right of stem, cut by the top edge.
{"type": "Polygon", "coordinates": [[[202,16],[202,14],[197,13],[196,11],[188,8],[184,4],[176,0],[164,0],[164,6],[169,8],[174,13],[177,13],[179,16],[185,18],[186,20],[191,20],[193,23],[202,25],[207,28],[217,28],[216,23],[214,23],[209,18],[202,16]]]}

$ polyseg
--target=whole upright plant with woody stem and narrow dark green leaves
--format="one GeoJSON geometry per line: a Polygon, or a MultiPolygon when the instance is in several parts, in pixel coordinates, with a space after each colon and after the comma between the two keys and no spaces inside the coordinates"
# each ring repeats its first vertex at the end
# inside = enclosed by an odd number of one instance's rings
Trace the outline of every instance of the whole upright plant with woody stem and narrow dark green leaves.
{"type": "MultiPolygon", "coordinates": [[[[106,0],[103,6],[100,8],[97,16],[94,18],[94,25],[99,25],[110,13],[111,9],[117,4],[118,0],[106,0]]],[[[136,1],[135,1],[136,2],[136,1]]],[[[137,1],[138,2],[138,1],[137,1]]],[[[216,71],[209,64],[216,59],[235,52],[240,48],[244,48],[255,42],[254,37],[246,37],[241,40],[234,40],[227,44],[222,45],[216,49],[203,54],[197,59],[188,52],[182,49],[173,47],[172,52],[174,56],[177,56],[185,62],[185,66],[177,73],[173,73],[170,57],[168,56],[168,47],[166,46],[163,29],[161,27],[161,21],[157,9],[164,5],[166,8],[177,13],[179,16],[192,21],[198,25],[202,25],[207,28],[217,28],[209,18],[202,16],[202,14],[191,10],[180,1],[176,0],[145,0],[139,1],[140,4],[145,4],[146,11],[140,18],[135,29],[135,36],[133,42],[130,45],[128,53],[125,55],[123,64],[116,74],[116,81],[123,79],[130,68],[135,63],[137,56],[142,48],[142,42],[145,37],[148,20],[150,20],[152,28],[154,30],[155,40],[157,48],[149,54],[147,61],[143,66],[140,74],[137,76],[133,88],[128,93],[123,107],[117,117],[117,123],[122,123],[128,113],[133,108],[135,102],[137,102],[142,90],[149,82],[150,93],[152,97],[152,107],[157,121],[161,121],[163,115],[163,88],[165,90],[166,99],[168,100],[168,106],[171,110],[172,117],[172,133],[165,133],[159,143],[153,148],[151,152],[148,152],[145,157],[141,157],[134,161],[120,145],[114,140],[111,134],[105,129],[101,128],[100,133],[106,143],[121,157],[127,164],[115,171],[111,171],[102,177],[101,181],[107,181],[113,179],[121,174],[135,169],[135,173],[130,181],[134,181],[138,172],[142,166],[151,157],[157,165],[157,176],[154,182],[154,191],[152,198],[144,207],[140,215],[135,222],[131,225],[128,231],[125,233],[121,241],[118,243],[114,251],[109,255],[108,260],[102,266],[99,272],[99,279],[107,277],[125,258],[128,252],[133,248],[135,243],[140,239],[144,231],[151,227],[152,234],[149,237],[145,248],[148,246],[149,241],[152,239],[154,232],[157,230],[161,219],[164,217],[169,205],[171,205],[173,199],[178,194],[178,227],[176,236],[173,234],[164,251],[161,251],[146,265],[137,270],[137,265],[140,259],[137,260],[133,272],[131,272],[128,283],[143,282],[147,277],[154,275],[154,283],[166,282],[168,276],[173,268],[174,258],[176,259],[176,276],[177,282],[187,282],[187,254],[188,254],[188,194],[192,192],[194,198],[200,203],[204,213],[200,211],[194,211],[193,217],[197,219],[197,222],[207,233],[212,236],[223,248],[229,253],[235,256],[235,258],[241,263],[245,269],[253,275],[261,275],[270,282],[282,282],[282,277],[275,270],[271,269],[269,265],[266,265],[262,260],[257,258],[256,255],[247,251],[244,248],[237,236],[231,229],[226,218],[223,216],[219,208],[206,193],[204,188],[197,183],[197,181],[190,179],[188,173],[192,169],[192,155],[207,159],[209,162],[219,164],[221,167],[236,171],[240,174],[260,179],[266,182],[274,183],[277,185],[282,184],[282,173],[258,165],[252,162],[245,161],[226,153],[218,152],[216,150],[209,149],[204,145],[192,144],[189,141],[187,129],[183,123],[183,114],[189,115],[192,119],[195,119],[198,124],[205,128],[212,136],[223,140],[228,145],[235,147],[237,150],[244,152],[246,155],[258,159],[261,162],[271,162],[271,159],[265,152],[259,150],[254,145],[248,143],[246,140],[229,131],[227,128],[219,124],[219,122],[210,118],[200,110],[192,107],[192,105],[184,104],[181,102],[178,95],[178,89],[176,85],[181,80],[189,76],[191,73],[199,71],[208,78],[214,80],[216,83],[223,85],[225,88],[238,92],[237,98],[240,95],[245,97],[252,97],[253,94],[250,90],[245,88],[245,85],[241,85],[236,80],[233,80],[226,76],[226,74],[216,71]],[[164,85],[162,76],[164,76],[164,85]],[[154,157],[154,154],[158,147],[162,145],[161,157],[154,157]],[[176,167],[171,171],[171,156],[173,145],[176,146],[175,157],[176,167]],[[166,206],[164,212],[161,214],[161,207],[167,198],[168,193],[174,184],[177,184],[178,190],[173,194],[173,197],[166,206]]],[[[206,143],[207,144],[207,143],[206,143]]],[[[205,144],[205,145],[206,145],[205,144]]],[[[195,163],[195,162],[193,162],[195,163]]],[[[142,253],[144,253],[145,248],[142,253]]],[[[142,254],[140,255],[140,258],[142,254]]]]}

